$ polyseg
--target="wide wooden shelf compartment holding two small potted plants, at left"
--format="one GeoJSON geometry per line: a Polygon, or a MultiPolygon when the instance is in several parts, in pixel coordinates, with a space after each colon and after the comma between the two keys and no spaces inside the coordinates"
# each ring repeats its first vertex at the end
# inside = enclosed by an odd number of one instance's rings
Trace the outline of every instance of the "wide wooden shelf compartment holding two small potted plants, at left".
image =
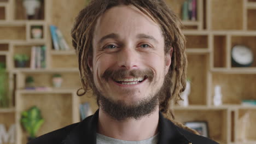
{"type": "MultiPolygon", "coordinates": [[[[39,73],[21,73],[19,76],[19,89],[25,88],[25,81],[27,76],[32,76],[34,79],[34,86],[36,87],[50,87],[52,90],[49,92],[71,92],[70,89],[78,89],[80,88],[80,77],[76,73],[48,73],[45,74],[44,72],[39,73]],[[54,74],[61,74],[62,76],[62,85],[60,88],[53,87],[53,75],[54,74]],[[65,90],[66,89],[66,90],[65,90]]],[[[27,91],[29,92],[29,91],[27,91]]],[[[38,92],[32,90],[32,92],[38,92]]],[[[48,91],[46,91],[48,92],[48,91]]],[[[38,92],[40,93],[40,92],[38,92]]]]}

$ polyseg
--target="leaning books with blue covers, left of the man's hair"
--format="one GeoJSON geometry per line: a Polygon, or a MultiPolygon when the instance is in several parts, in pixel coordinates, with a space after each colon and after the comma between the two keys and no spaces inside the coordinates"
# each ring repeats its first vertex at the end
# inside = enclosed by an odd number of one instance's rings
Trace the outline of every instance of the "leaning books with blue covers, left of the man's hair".
{"type": "Polygon", "coordinates": [[[54,50],[69,50],[67,41],[56,26],[50,25],[51,39],[53,40],[54,50]]]}

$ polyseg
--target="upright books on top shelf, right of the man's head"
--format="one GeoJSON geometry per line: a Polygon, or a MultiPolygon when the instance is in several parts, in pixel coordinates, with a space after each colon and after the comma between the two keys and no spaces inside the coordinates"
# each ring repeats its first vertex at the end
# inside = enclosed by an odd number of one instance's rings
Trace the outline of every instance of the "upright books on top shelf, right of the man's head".
{"type": "Polygon", "coordinates": [[[196,20],[196,0],[186,0],[182,5],[182,20],[196,20]]]}

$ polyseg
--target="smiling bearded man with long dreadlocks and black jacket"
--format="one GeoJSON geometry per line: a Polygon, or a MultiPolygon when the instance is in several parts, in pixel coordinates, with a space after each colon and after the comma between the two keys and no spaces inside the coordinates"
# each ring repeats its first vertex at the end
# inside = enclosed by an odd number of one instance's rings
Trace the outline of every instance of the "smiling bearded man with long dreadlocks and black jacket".
{"type": "Polygon", "coordinates": [[[216,143],[174,122],[169,109],[185,89],[180,27],[162,0],[91,1],[72,38],[82,89],[100,108],[29,143],[216,143]]]}

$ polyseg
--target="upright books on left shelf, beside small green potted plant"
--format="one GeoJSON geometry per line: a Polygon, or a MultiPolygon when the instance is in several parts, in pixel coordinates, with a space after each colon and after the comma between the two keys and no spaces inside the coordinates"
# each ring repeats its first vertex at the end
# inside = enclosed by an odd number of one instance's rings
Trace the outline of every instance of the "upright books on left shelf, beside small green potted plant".
{"type": "Polygon", "coordinates": [[[30,68],[45,68],[45,46],[32,46],[30,68]]]}

